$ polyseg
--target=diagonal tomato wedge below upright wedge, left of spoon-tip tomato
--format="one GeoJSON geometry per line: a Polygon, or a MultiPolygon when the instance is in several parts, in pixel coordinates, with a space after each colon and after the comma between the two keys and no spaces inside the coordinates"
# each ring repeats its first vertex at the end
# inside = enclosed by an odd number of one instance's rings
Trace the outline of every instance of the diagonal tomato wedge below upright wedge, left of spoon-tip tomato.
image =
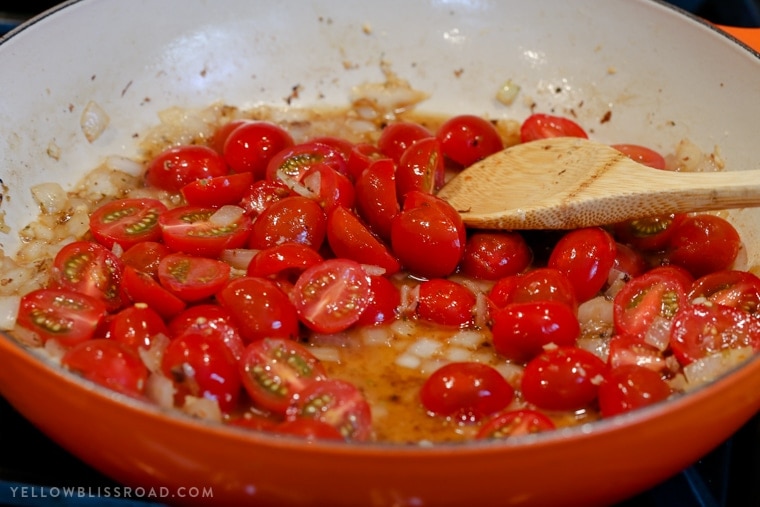
{"type": "Polygon", "coordinates": [[[337,257],[379,266],[391,275],[401,269],[388,247],[351,211],[339,206],[327,216],[327,242],[337,257]]]}

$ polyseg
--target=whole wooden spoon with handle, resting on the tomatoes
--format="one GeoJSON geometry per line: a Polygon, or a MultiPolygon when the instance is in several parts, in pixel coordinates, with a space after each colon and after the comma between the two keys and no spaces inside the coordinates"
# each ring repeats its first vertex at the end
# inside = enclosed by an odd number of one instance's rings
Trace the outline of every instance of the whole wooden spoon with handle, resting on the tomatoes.
{"type": "Polygon", "coordinates": [[[518,144],[438,193],[483,229],[572,229],[667,213],[760,206],[760,170],[663,171],[573,137],[518,144]]]}

